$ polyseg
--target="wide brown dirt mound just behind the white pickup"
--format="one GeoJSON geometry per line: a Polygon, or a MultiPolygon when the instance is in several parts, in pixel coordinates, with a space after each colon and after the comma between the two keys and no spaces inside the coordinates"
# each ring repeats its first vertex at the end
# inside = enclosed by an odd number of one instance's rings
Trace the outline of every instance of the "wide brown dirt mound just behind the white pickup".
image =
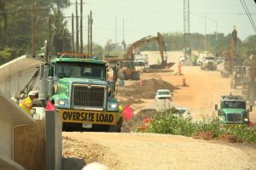
{"type": "Polygon", "coordinates": [[[156,79],[144,80],[143,86],[140,86],[140,83],[141,82],[133,82],[131,85],[119,89],[119,94],[128,97],[136,96],[137,98],[154,99],[158,89],[169,89],[171,91],[178,89],[169,82],[156,79]]]}

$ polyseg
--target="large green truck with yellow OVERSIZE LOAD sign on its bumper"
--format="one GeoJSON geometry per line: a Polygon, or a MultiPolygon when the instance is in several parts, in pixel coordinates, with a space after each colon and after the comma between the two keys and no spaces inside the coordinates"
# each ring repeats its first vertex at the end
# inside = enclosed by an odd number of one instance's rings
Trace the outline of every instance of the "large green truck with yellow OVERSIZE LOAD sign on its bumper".
{"type": "Polygon", "coordinates": [[[111,66],[110,82],[105,61],[84,54],[59,55],[39,66],[38,100],[42,106],[46,101],[55,105],[63,131],[120,131],[117,66],[111,66]]]}

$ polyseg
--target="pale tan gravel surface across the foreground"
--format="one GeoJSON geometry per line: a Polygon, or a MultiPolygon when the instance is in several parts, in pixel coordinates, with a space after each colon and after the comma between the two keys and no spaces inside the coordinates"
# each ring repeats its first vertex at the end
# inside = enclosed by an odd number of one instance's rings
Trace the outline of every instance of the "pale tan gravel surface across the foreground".
{"type": "Polygon", "coordinates": [[[62,135],[64,139],[80,144],[68,146],[68,150],[79,147],[78,155],[71,152],[69,156],[74,154],[86,163],[100,161],[111,169],[256,169],[256,147],[252,144],[229,144],[154,133],[62,135]],[[89,147],[91,144],[95,147],[89,147]],[[83,157],[86,153],[90,155],[83,157]]]}

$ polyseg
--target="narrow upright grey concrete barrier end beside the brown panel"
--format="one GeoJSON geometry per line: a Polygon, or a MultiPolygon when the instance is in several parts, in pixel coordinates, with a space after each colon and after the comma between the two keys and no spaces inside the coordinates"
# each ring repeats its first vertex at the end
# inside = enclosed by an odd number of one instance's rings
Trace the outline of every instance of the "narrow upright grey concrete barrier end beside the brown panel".
{"type": "Polygon", "coordinates": [[[46,170],[61,170],[62,122],[55,111],[46,111],[46,170]]]}

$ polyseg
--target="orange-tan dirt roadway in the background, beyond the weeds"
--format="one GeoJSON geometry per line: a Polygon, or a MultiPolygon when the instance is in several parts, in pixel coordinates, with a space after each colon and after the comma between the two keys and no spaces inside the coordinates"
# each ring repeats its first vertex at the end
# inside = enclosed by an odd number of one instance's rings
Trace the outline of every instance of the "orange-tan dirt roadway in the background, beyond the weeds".
{"type": "MultiPolygon", "coordinates": [[[[160,55],[157,52],[143,52],[149,56],[149,64],[155,64],[160,55]]],[[[168,61],[177,62],[181,52],[168,52],[168,61]]],[[[177,65],[172,66],[172,72],[166,73],[148,73],[142,74],[141,78],[151,79],[156,78],[177,86],[173,95],[173,102],[177,105],[187,107],[191,110],[191,115],[195,119],[202,116],[216,116],[214,105],[219,105],[220,96],[223,94],[241,94],[241,89],[230,88],[230,78],[220,77],[219,70],[221,65],[218,65],[218,71],[202,71],[199,66],[182,66],[182,76],[177,76],[177,65]],[[188,86],[183,87],[183,78],[188,86]]],[[[152,101],[150,101],[152,102],[152,101]]],[[[151,105],[150,103],[148,105],[151,105]]],[[[256,122],[256,111],[251,113],[251,120],[256,122]]]]}

